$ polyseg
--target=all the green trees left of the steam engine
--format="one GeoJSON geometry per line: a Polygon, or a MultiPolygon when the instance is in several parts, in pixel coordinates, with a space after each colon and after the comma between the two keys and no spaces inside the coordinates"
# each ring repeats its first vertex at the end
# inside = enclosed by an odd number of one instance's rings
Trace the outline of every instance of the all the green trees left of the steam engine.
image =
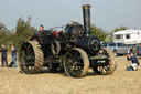
{"type": "Polygon", "coordinates": [[[36,32],[36,29],[31,25],[31,18],[23,20],[18,19],[15,31],[8,30],[3,23],[0,23],[0,45],[6,44],[10,48],[14,44],[18,49],[22,42],[30,40],[30,38],[36,32]]]}

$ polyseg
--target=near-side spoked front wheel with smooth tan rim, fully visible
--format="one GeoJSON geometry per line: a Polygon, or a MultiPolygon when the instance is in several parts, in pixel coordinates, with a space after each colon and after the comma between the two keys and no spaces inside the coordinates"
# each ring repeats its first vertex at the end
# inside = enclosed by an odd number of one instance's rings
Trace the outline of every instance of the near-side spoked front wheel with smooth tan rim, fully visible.
{"type": "Polygon", "coordinates": [[[87,74],[89,67],[88,55],[84,50],[74,48],[65,54],[63,64],[68,76],[83,77],[87,74]]]}

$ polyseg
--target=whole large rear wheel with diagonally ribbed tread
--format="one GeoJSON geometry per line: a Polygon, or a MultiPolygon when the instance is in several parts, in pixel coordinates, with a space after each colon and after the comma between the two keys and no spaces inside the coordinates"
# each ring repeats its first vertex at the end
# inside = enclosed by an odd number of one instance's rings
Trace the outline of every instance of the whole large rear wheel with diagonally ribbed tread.
{"type": "Polygon", "coordinates": [[[40,73],[43,65],[41,45],[34,41],[24,42],[20,49],[19,66],[26,74],[40,73]]]}

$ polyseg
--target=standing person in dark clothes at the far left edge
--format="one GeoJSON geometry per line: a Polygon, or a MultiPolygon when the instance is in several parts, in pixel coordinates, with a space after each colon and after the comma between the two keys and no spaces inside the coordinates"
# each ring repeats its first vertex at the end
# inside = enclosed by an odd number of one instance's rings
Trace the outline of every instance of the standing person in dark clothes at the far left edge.
{"type": "Polygon", "coordinates": [[[7,60],[7,48],[4,44],[1,45],[1,66],[4,67],[4,63],[6,66],[8,66],[8,60],[7,60]]]}

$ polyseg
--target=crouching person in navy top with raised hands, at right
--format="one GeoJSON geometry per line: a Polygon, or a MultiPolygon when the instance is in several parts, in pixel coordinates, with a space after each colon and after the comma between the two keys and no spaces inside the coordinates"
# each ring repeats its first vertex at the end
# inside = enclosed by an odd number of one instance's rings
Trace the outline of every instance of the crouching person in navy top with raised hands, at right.
{"type": "Polygon", "coordinates": [[[128,54],[127,60],[132,62],[131,64],[128,65],[127,70],[137,71],[138,66],[140,65],[137,56],[133,55],[133,53],[130,53],[130,54],[128,54]]]}

